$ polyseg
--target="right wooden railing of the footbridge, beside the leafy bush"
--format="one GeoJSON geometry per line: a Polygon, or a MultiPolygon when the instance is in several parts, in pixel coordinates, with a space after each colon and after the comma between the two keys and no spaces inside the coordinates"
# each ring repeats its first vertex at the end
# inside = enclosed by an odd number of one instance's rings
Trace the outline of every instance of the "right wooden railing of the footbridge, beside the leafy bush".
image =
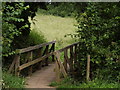
{"type": "Polygon", "coordinates": [[[64,77],[66,77],[68,74],[73,74],[75,64],[77,64],[79,46],[79,42],[77,42],[58,51],[55,51],[54,55],[56,56],[56,81],[60,81],[61,74],[63,74],[64,77]],[[64,60],[61,60],[61,53],[64,55],[64,60]]]}

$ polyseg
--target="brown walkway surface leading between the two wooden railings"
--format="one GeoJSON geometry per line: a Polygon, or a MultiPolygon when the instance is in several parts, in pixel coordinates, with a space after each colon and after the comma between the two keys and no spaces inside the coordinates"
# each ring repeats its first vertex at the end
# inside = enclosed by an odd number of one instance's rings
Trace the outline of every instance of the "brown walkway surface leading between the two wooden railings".
{"type": "Polygon", "coordinates": [[[49,86],[55,80],[54,68],[55,64],[52,63],[36,71],[31,77],[27,77],[26,88],[51,88],[55,90],[54,87],[49,86]]]}

